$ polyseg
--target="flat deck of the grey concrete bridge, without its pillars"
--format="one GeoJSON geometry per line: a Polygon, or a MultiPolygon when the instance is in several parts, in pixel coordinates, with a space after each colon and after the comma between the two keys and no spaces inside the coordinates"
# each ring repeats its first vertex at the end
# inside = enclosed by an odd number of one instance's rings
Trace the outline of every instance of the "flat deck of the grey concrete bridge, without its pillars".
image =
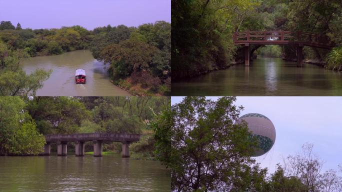
{"type": "Polygon", "coordinates": [[[75,141],[138,141],[140,134],[127,133],[76,133],[76,134],[47,134],[45,135],[46,142],[75,142],[75,141]]]}

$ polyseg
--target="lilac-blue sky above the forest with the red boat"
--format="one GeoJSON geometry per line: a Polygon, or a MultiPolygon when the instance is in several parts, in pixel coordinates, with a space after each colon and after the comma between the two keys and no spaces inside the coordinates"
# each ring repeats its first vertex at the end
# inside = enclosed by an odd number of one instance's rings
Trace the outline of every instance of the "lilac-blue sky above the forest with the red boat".
{"type": "Polygon", "coordinates": [[[32,29],[171,22],[170,0],[0,0],[0,7],[0,20],[32,29]]]}

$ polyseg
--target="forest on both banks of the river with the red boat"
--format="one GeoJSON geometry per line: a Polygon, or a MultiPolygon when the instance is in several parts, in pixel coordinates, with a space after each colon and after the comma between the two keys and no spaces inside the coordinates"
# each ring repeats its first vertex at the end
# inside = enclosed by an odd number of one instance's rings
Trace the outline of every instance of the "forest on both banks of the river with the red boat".
{"type": "Polygon", "coordinates": [[[1,95],[34,95],[51,71],[25,74],[19,59],[28,56],[62,54],[90,49],[104,62],[111,80],[138,95],[167,95],[170,92],[171,25],[165,21],[97,27],[87,30],[79,25],[52,29],[16,27],[10,21],[0,23],[1,95]],[[29,84],[22,79],[32,78],[29,84]],[[33,88],[32,88],[33,87],[33,88]],[[18,90],[17,90],[18,89],[18,90]],[[28,91],[27,91],[28,90],[28,91]]]}

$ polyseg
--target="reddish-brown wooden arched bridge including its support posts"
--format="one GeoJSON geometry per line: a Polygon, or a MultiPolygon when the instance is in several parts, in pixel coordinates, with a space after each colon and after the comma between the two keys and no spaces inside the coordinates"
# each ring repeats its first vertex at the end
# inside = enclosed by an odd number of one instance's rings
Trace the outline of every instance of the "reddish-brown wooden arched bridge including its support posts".
{"type": "Polygon", "coordinates": [[[331,49],[332,43],[322,35],[302,31],[245,31],[235,32],[233,41],[243,45],[244,64],[249,65],[249,44],[295,44],[297,65],[303,63],[303,46],[331,49]]]}

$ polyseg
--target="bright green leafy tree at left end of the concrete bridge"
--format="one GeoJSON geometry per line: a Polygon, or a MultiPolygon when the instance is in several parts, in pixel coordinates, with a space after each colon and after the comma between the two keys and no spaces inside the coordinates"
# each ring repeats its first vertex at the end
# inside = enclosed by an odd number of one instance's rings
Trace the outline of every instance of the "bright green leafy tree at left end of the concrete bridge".
{"type": "Polygon", "coordinates": [[[24,110],[25,102],[17,96],[0,97],[0,155],[38,154],[45,138],[24,110]]]}

